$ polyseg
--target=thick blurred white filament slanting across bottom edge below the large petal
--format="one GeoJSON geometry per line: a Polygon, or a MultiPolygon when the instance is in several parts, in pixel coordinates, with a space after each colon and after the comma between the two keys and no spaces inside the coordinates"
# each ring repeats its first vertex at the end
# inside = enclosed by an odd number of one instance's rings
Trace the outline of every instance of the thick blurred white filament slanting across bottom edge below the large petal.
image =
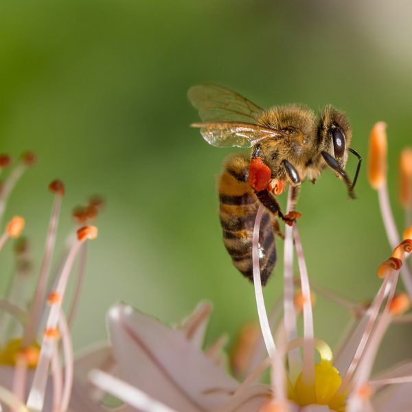
{"type": "Polygon", "coordinates": [[[158,402],[139,391],[139,389],[129,385],[122,380],[115,378],[103,371],[94,369],[89,374],[89,379],[93,385],[103,389],[105,392],[123,400],[132,407],[144,412],[176,412],[165,404],[158,402]]]}

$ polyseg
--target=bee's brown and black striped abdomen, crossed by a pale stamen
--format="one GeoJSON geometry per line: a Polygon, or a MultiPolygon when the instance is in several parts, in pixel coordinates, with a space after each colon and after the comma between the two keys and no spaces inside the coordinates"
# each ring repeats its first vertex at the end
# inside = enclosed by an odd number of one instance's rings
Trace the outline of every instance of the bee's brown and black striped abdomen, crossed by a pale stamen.
{"type": "MultiPolygon", "coordinates": [[[[219,177],[220,224],[233,264],[253,282],[252,238],[260,201],[247,183],[249,160],[231,156],[219,177]]],[[[265,285],[276,262],[273,215],[264,211],[259,233],[260,275],[265,285]]]]}

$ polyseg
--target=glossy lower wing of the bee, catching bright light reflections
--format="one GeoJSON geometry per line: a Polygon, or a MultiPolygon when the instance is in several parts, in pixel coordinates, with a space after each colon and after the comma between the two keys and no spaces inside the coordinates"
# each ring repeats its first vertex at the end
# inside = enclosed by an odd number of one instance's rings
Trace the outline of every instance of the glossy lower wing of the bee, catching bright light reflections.
{"type": "Polygon", "coordinates": [[[218,148],[251,148],[268,137],[279,139],[285,136],[280,130],[240,122],[194,123],[192,127],[201,128],[203,139],[218,148]]]}

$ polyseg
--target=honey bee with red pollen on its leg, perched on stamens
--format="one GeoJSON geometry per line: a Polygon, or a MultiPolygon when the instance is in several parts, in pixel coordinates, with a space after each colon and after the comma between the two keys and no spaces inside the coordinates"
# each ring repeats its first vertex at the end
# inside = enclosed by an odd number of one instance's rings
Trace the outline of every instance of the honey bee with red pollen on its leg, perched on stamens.
{"type": "Polygon", "coordinates": [[[262,285],[276,263],[275,234],[282,236],[277,218],[293,225],[298,212],[283,214],[275,196],[290,185],[294,205],[304,179],[314,183],[331,168],[347,186],[350,198],[361,168],[361,156],[350,148],[352,128],[346,115],[325,106],[317,117],[297,104],[264,110],[238,93],[213,84],[192,87],[187,96],[198,109],[201,135],[218,148],[251,148],[250,157],[230,155],[218,177],[223,242],[240,273],[253,282],[252,238],[260,204],[266,208],[259,233],[262,285]],[[348,153],[358,157],[354,181],[345,172],[348,153]]]}

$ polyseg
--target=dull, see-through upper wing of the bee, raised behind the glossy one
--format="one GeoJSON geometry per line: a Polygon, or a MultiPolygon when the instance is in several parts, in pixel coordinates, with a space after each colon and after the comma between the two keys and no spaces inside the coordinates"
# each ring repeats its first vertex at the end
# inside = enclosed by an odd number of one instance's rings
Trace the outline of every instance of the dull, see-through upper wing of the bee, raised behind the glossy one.
{"type": "Polygon", "coordinates": [[[203,122],[253,123],[263,111],[238,93],[215,84],[193,86],[187,98],[198,109],[203,122]]]}

